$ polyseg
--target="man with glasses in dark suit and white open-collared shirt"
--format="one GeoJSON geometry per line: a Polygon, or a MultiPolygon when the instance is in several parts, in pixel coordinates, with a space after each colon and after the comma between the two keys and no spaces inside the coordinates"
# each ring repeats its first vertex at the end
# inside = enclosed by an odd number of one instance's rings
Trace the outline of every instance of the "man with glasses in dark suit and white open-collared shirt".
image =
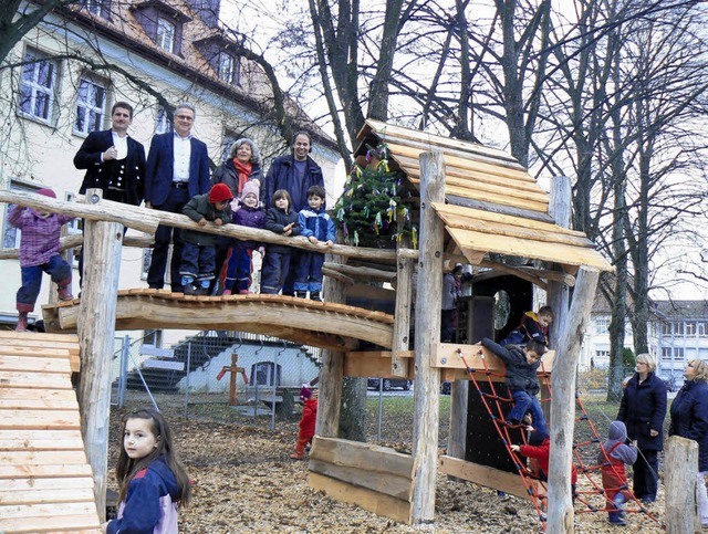
{"type": "MultiPolygon", "coordinates": [[[[211,182],[207,145],[191,135],[196,114],[191,105],[178,105],[175,109],[175,132],[153,137],[145,171],[146,208],[181,213],[189,199],[209,192],[211,182]]],[[[163,289],[170,240],[171,289],[175,293],[181,293],[179,263],[183,242],[177,228],[163,224],[157,228],[147,284],[153,289],[163,289]]]]}

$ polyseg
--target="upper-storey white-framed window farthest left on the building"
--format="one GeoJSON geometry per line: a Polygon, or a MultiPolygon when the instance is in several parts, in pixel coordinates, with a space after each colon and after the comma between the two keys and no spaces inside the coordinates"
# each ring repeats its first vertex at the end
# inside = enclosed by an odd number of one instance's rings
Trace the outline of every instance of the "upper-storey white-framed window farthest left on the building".
{"type": "Polygon", "coordinates": [[[22,66],[20,111],[43,122],[51,122],[59,63],[37,50],[28,49],[22,66]]]}

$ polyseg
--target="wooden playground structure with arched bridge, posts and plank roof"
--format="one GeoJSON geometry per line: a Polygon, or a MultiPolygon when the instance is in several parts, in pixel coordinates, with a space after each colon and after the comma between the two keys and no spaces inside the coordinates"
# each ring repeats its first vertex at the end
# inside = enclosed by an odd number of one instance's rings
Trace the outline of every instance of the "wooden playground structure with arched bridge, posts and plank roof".
{"type": "MultiPolygon", "coordinates": [[[[457,355],[465,350],[468,358],[476,356],[469,352],[469,345],[440,343],[440,291],[435,291],[441,287],[446,265],[449,269],[455,262],[471,265],[473,282],[476,280],[480,287],[490,280],[503,278],[546,291],[548,303],[556,312],[552,335],[556,341],[555,354],[561,355],[555,362],[553,353],[544,356],[545,368],[553,370],[554,380],[551,418],[554,421],[552,438],[558,440],[554,441],[558,447],[555,451],[552,449],[552,454],[556,454],[558,473],[562,475],[564,469],[570,473],[572,443],[563,442],[568,437],[556,436],[556,430],[572,427],[572,410],[568,407],[574,402],[571,377],[582,331],[598,272],[612,268],[582,232],[565,228],[570,213],[569,180],[558,180],[554,200],[550,201],[525,169],[500,150],[375,121],[367,121],[360,140],[357,157],[364,154],[366,145],[386,143],[391,167],[399,169],[417,189],[420,247],[414,250],[400,242],[396,249],[377,250],[335,244],[325,263],[324,303],[275,295],[208,297],[144,289],[118,291],[124,244],[149,247],[149,234],[158,223],[178,228],[196,224],[185,216],[102,200],[101,191],[87,191],[79,202],[0,193],[0,201],[86,219],[82,299],[46,305],[43,314],[50,332],[77,333],[82,363],[77,389],[81,430],[93,470],[100,516],[105,510],[107,366],[114,333],[144,327],[237,327],[326,348],[320,376],[317,438],[310,470],[311,485],[334,499],[354,502],[406,523],[430,522],[439,465],[446,473],[482,484],[503,481],[503,488],[499,489],[521,494],[509,473],[465,460],[465,451],[470,446],[467,436],[469,377],[457,355]],[[559,220],[558,224],[551,216],[559,220]],[[124,242],[124,227],[146,235],[124,242]],[[503,256],[529,261],[504,262],[503,256]],[[530,264],[530,260],[534,263],[530,264]],[[363,293],[376,293],[375,289],[362,290],[365,285],[362,281],[368,280],[395,282],[393,316],[345,304],[347,294],[356,287],[363,293]],[[569,307],[570,286],[574,286],[574,296],[569,307]],[[361,348],[363,342],[368,344],[364,349],[361,348]],[[403,454],[388,449],[339,439],[345,376],[415,380],[413,456],[402,458],[403,454]],[[454,381],[448,454],[442,462],[438,458],[441,380],[454,381]]],[[[284,238],[233,224],[200,230],[322,251],[304,238],[284,238]]],[[[75,239],[67,239],[65,244],[74,245],[75,239]]],[[[491,324],[489,313],[482,308],[472,311],[470,324],[475,321],[491,324]]],[[[480,332],[470,331],[473,335],[480,332]]],[[[492,355],[486,357],[489,365],[501,369],[492,355]]],[[[572,431],[570,433],[572,436],[572,431]]],[[[558,473],[552,470],[550,480],[558,473]]],[[[549,510],[549,525],[563,521],[571,506],[570,494],[561,494],[556,502],[549,510]]]]}

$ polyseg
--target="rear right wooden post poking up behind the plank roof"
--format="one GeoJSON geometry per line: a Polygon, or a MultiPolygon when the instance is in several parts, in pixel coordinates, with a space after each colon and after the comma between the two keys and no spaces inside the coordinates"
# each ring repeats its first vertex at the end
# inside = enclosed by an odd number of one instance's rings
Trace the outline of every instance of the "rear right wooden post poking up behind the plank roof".
{"type": "MultiPolygon", "coordinates": [[[[551,180],[549,214],[559,227],[571,228],[572,201],[571,179],[568,176],[554,176],[551,180]]],[[[551,323],[550,332],[551,348],[555,349],[568,322],[570,291],[564,283],[548,279],[545,294],[546,304],[553,308],[553,314],[555,315],[553,323],[551,323]]],[[[549,388],[543,383],[541,384],[541,396],[543,398],[551,396],[549,388]]],[[[550,402],[543,402],[543,413],[546,422],[551,423],[550,402]]]]}

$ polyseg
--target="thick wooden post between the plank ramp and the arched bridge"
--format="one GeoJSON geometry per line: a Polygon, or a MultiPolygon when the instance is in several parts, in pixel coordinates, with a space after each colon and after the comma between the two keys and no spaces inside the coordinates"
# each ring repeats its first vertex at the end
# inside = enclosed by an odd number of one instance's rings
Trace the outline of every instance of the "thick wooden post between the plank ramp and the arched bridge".
{"type": "MultiPolygon", "coordinates": [[[[101,190],[90,189],[86,199],[101,201],[101,190]],[[97,192],[97,196],[96,196],[97,192]]],[[[81,344],[79,407],[86,458],[93,470],[98,517],[106,515],[108,416],[111,412],[111,362],[115,350],[115,315],[123,248],[123,224],[86,220],[84,276],[81,293],[81,344]]]]}

